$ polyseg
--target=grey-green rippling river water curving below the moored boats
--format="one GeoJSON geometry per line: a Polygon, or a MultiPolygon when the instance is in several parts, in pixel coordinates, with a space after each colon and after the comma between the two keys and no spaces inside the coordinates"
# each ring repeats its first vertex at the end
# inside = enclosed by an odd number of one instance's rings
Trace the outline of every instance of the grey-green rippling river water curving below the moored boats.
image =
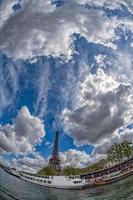
{"type": "Polygon", "coordinates": [[[0,168],[0,200],[133,200],[133,176],[111,185],[81,191],[45,188],[0,168]]]}

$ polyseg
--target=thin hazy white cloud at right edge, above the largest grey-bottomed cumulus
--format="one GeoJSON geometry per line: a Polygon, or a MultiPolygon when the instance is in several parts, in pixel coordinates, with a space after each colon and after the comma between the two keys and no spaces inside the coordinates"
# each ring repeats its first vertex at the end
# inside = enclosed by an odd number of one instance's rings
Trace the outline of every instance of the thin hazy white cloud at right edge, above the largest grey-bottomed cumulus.
{"type": "Polygon", "coordinates": [[[133,59],[130,47],[113,52],[113,57],[106,54],[94,56],[98,68],[118,75],[117,78],[126,84],[133,84],[133,59]],[[123,59],[124,58],[124,59],[123,59]]]}

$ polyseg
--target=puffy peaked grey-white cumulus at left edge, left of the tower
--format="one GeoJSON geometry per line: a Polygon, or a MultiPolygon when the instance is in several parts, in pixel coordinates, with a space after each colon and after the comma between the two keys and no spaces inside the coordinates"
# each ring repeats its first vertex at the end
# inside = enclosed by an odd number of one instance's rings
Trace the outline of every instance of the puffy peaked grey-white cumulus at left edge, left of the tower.
{"type": "Polygon", "coordinates": [[[13,124],[0,126],[0,149],[4,152],[27,152],[45,136],[44,125],[30,114],[26,106],[19,111],[13,124]]]}

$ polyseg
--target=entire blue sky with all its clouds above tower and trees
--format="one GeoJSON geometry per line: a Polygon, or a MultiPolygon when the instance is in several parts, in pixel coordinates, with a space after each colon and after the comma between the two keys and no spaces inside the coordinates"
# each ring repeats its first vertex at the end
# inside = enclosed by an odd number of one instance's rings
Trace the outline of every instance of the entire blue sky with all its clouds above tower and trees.
{"type": "Polygon", "coordinates": [[[56,128],[70,165],[69,154],[87,165],[106,157],[114,140],[132,141],[130,1],[1,5],[1,160],[28,167],[40,159],[42,167],[56,128]]]}

